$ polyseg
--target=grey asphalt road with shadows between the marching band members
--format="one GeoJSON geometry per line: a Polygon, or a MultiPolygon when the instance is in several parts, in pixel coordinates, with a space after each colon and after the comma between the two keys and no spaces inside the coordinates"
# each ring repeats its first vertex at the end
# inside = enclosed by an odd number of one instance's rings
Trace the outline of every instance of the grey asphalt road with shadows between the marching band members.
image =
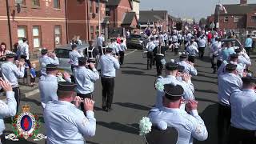
{"type": "MultiPolygon", "coordinates": [[[[167,52],[166,61],[174,57],[167,52]]],[[[196,61],[198,76],[194,76],[192,82],[195,87],[195,97],[198,100],[198,111],[205,121],[209,137],[205,142],[194,142],[196,144],[217,143],[217,74],[211,74],[208,58],[196,61]]],[[[106,113],[102,111],[102,86],[100,80],[95,84],[95,118],[97,119],[97,130],[94,138],[86,139],[89,144],[144,144],[143,138],[138,135],[138,122],[146,116],[155,102],[155,80],[156,70],[146,70],[146,58],[142,58],[142,50],[137,50],[125,58],[125,65],[117,72],[114,90],[114,110],[106,113]]],[[[22,98],[22,104],[33,107],[30,111],[38,114],[42,120],[42,109],[40,98],[34,95],[30,98],[22,98]]],[[[7,132],[11,131],[10,119],[6,121],[7,132]]],[[[40,133],[44,134],[43,126],[40,133]]],[[[20,141],[6,143],[44,143],[20,141]]]]}

